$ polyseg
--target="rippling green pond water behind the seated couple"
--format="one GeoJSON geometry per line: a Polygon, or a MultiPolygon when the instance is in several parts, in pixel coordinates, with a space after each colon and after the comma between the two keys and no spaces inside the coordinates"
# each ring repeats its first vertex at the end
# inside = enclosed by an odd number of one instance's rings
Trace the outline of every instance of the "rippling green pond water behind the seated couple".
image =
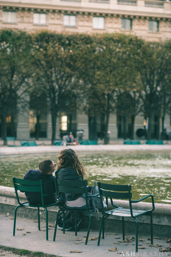
{"type": "MultiPolygon", "coordinates": [[[[57,155],[0,158],[0,185],[13,187],[13,176],[23,178],[29,169],[38,169],[44,159],[57,162],[57,155]]],[[[133,200],[153,194],[155,202],[171,203],[171,152],[89,153],[79,154],[79,159],[86,168],[88,185],[94,185],[94,180],[131,184],[133,200]]]]}

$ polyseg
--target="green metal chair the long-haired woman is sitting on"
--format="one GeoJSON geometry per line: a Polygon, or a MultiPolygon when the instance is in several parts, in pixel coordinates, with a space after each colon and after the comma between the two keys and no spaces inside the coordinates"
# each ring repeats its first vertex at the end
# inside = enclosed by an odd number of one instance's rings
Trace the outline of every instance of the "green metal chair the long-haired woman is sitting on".
{"type": "Polygon", "coordinates": [[[66,180],[59,180],[56,178],[55,179],[55,187],[56,187],[56,193],[61,192],[61,193],[71,193],[71,194],[85,194],[86,209],[75,210],[74,208],[67,209],[65,206],[64,207],[59,206],[60,210],[57,212],[53,241],[55,241],[55,237],[56,237],[57,221],[58,221],[59,213],[63,212],[63,233],[65,234],[65,211],[69,210],[69,211],[75,211],[75,235],[76,236],[77,236],[77,212],[88,212],[90,222],[89,222],[86,241],[85,241],[85,244],[87,244],[88,236],[89,236],[89,232],[90,232],[91,221],[92,221],[92,213],[91,212],[94,211],[94,208],[91,208],[91,206],[90,206],[90,208],[88,208],[88,198],[95,197],[99,194],[95,194],[95,195],[87,194],[87,180],[66,181],[66,180]]]}

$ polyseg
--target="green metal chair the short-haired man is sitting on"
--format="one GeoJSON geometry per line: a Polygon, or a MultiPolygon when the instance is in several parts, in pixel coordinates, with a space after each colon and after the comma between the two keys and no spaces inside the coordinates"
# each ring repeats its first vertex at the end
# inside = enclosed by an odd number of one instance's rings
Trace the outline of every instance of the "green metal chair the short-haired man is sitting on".
{"type": "Polygon", "coordinates": [[[44,204],[44,196],[48,196],[50,194],[44,194],[43,193],[43,180],[27,180],[27,179],[20,179],[20,178],[15,178],[13,177],[13,183],[14,183],[14,188],[15,188],[15,193],[17,197],[17,202],[18,206],[15,208],[15,215],[14,215],[14,228],[13,228],[13,236],[15,236],[15,224],[16,224],[16,216],[17,216],[17,209],[19,207],[36,207],[38,208],[38,229],[40,230],[40,211],[39,208],[43,207],[46,211],[46,240],[48,240],[48,210],[47,207],[50,206],[57,206],[57,204],[50,204],[50,205],[45,205],[44,204]],[[41,192],[42,195],[42,205],[34,205],[34,204],[29,204],[28,202],[23,202],[20,203],[19,197],[18,197],[18,192],[17,190],[21,190],[24,192],[41,192]]]}

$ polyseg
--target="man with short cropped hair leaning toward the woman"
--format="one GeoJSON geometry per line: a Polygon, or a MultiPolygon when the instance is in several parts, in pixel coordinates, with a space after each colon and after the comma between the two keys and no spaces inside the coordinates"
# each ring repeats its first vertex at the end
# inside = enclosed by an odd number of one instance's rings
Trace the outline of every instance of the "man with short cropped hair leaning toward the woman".
{"type": "MultiPolygon", "coordinates": [[[[44,196],[44,204],[49,205],[55,203],[55,182],[54,182],[54,176],[52,173],[56,169],[56,163],[53,161],[47,159],[42,160],[39,163],[39,169],[38,170],[29,170],[25,175],[23,179],[28,180],[39,180],[42,179],[44,182],[43,188],[44,188],[44,194],[50,194],[48,196],[44,196]]],[[[29,204],[42,204],[42,197],[41,192],[25,192],[26,198],[29,202],[29,204]]]]}

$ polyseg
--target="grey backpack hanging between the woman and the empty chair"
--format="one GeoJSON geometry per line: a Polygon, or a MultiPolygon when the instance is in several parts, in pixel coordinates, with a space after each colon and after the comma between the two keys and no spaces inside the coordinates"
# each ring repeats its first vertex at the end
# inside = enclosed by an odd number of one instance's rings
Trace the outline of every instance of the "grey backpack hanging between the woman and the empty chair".
{"type": "MultiPolygon", "coordinates": [[[[94,182],[94,187],[92,188],[91,190],[91,195],[95,195],[95,194],[98,194],[99,191],[98,191],[98,186],[97,186],[97,181],[94,182]]],[[[102,196],[102,199],[104,201],[104,197],[102,196]]],[[[99,210],[98,209],[101,209],[102,208],[102,204],[101,204],[101,201],[100,201],[100,196],[95,196],[95,197],[92,197],[92,204],[93,204],[93,208],[94,208],[94,213],[95,213],[95,216],[96,216],[96,219],[99,220],[100,219],[100,215],[99,215],[99,210]]]]}

